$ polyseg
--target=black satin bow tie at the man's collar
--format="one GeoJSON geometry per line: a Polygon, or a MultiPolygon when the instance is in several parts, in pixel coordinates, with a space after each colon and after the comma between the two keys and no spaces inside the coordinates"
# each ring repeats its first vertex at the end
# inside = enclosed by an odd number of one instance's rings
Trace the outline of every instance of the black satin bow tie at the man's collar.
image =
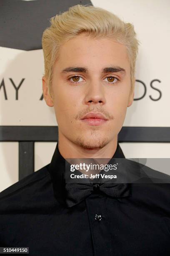
{"type": "Polygon", "coordinates": [[[65,184],[66,205],[72,207],[82,202],[91,193],[103,193],[110,197],[127,197],[130,195],[128,183],[67,183],[65,184]]]}

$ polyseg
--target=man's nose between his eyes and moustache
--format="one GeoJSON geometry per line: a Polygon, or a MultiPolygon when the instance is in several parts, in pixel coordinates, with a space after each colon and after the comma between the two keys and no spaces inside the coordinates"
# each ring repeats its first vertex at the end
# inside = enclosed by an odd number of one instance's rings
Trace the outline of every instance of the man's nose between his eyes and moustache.
{"type": "Polygon", "coordinates": [[[88,89],[85,93],[85,104],[92,105],[92,104],[100,104],[104,105],[106,102],[105,99],[105,88],[100,82],[91,82],[88,84],[88,89]]]}

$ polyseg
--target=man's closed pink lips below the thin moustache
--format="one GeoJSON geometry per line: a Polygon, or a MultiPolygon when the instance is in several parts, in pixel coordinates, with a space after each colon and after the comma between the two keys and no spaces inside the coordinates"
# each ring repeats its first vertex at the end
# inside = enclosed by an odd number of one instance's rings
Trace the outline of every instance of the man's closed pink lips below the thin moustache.
{"type": "Polygon", "coordinates": [[[81,120],[88,125],[101,125],[103,123],[106,123],[108,119],[101,113],[91,112],[85,115],[81,120]]]}

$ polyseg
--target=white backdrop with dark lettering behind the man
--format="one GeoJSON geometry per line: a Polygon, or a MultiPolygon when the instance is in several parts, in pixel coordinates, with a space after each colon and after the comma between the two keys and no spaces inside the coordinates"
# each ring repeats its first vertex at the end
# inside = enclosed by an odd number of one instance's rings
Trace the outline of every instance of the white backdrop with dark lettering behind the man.
{"type": "MultiPolygon", "coordinates": [[[[141,42],[135,100],[125,126],[170,127],[170,1],[92,0],[133,23],[141,42]],[[144,92],[146,90],[145,96],[144,92]]],[[[42,95],[42,49],[0,47],[0,125],[56,125],[53,108],[42,95]],[[15,88],[20,85],[17,90],[15,88]],[[15,84],[15,86],[13,85],[15,84]]],[[[51,161],[56,143],[35,143],[35,170],[51,161]]],[[[128,158],[170,158],[170,143],[121,143],[128,158]]],[[[18,181],[18,143],[0,143],[0,191],[18,181]]]]}

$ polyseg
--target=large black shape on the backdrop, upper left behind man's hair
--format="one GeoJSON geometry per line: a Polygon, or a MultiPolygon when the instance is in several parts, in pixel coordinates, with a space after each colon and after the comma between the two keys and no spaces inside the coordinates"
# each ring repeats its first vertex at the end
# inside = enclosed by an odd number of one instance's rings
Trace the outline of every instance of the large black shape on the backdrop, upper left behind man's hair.
{"type": "Polygon", "coordinates": [[[89,0],[0,0],[0,46],[25,51],[42,49],[41,38],[49,19],[89,0]]]}

